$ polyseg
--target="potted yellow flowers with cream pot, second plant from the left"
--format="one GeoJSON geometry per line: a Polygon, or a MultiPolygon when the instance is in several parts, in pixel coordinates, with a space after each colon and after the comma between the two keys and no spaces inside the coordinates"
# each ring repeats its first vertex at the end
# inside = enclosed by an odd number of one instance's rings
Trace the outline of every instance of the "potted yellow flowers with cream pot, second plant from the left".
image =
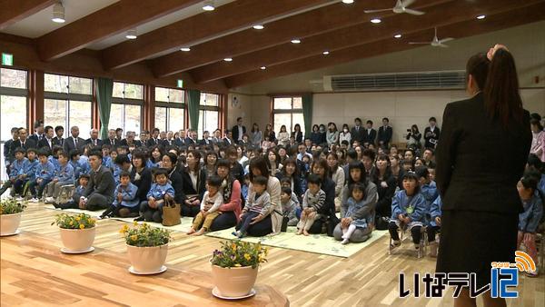
{"type": "Polygon", "coordinates": [[[94,234],[96,220],[89,214],[77,215],[57,214],[52,225],[56,223],[61,232],[63,253],[89,253],[94,251],[94,234]]]}

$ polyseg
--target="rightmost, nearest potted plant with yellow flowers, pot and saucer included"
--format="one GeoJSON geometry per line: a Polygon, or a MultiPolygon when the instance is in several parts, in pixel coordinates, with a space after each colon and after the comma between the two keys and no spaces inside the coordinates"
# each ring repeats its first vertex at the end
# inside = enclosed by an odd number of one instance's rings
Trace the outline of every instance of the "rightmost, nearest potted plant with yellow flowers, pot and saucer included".
{"type": "Polygon", "coordinates": [[[213,251],[212,277],[214,296],[223,299],[242,299],[255,294],[253,284],[257,269],[266,262],[267,248],[260,243],[229,240],[222,243],[221,250],[213,251]]]}

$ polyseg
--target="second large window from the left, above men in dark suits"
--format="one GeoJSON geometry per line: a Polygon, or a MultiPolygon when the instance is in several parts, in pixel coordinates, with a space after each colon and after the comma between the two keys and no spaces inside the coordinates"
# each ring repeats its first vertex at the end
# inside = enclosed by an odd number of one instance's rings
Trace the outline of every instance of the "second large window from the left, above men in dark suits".
{"type": "Polygon", "coordinates": [[[78,126],[86,138],[92,128],[93,80],[61,74],[44,75],[44,124],[62,125],[64,136],[78,126]]]}

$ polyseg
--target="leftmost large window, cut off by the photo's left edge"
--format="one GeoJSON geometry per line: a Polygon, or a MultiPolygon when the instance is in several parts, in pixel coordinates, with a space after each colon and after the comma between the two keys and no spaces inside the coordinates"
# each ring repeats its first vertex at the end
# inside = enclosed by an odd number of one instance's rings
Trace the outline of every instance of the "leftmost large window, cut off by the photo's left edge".
{"type": "Polygon", "coordinates": [[[1,179],[7,179],[4,143],[11,139],[11,128],[26,127],[27,77],[24,70],[0,68],[0,159],[1,179]]]}

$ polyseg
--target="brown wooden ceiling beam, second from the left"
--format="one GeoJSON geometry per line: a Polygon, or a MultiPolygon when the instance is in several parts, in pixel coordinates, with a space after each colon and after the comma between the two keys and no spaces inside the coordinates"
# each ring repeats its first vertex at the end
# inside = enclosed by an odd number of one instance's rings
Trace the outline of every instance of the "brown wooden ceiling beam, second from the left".
{"type": "Polygon", "coordinates": [[[51,61],[198,2],[121,0],[37,38],[38,54],[43,61],[51,61]]]}

